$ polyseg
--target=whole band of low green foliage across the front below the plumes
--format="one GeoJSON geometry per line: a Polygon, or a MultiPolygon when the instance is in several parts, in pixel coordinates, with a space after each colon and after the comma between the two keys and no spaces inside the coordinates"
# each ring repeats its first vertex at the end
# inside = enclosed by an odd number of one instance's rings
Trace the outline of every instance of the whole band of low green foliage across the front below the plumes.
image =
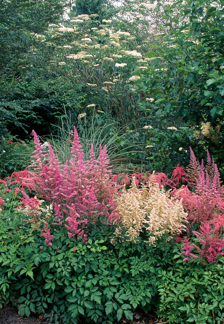
{"type": "Polygon", "coordinates": [[[87,244],[74,244],[55,227],[52,246],[26,222],[15,189],[0,196],[0,307],[19,314],[44,313],[54,324],[114,323],[133,311],[157,309],[168,323],[221,324],[224,319],[223,263],[183,261],[181,246],[162,237],[112,246],[114,228],[92,228],[87,244]]]}

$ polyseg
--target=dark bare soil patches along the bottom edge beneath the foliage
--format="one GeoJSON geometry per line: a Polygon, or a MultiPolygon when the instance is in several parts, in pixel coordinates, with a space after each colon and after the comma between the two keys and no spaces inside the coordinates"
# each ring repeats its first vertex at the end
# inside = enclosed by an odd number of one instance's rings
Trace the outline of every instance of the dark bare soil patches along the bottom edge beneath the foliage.
{"type": "MultiPolygon", "coordinates": [[[[127,319],[121,319],[119,323],[115,324],[159,324],[164,323],[163,319],[158,319],[155,313],[133,313],[133,322],[127,319]]],[[[39,317],[25,318],[18,315],[17,307],[10,304],[0,309],[0,324],[49,324],[49,320],[41,314],[39,317]]],[[[85,324],[85,323],[80,323],[85,324]]]]}

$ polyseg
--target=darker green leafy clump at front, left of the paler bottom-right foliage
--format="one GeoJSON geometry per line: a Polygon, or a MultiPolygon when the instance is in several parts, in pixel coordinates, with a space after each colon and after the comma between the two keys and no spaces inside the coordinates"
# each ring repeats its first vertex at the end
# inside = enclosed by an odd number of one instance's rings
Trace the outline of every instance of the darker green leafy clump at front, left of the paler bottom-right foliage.
{"type": "Polygon", "coordinates": [[[22,225],[21,213],[15,210],[7,220],[8,199],[0,220],[2,303],[18,298],[21,316],[45,312],[53,323],[84,317],[87,322],[113,323],[122,316],[132,319],[138,306],[150,309],[158,269],[172,260],[171,255],[163,259],[169,255],[164,243],[151,251],[143,242],[113,248],[108,238],[112,231],[102,229],[92,230],[87,245],[78,243],[75,252],[62,231],[54,232],[51,247],[41,248],[40,233],[22,225]]]}

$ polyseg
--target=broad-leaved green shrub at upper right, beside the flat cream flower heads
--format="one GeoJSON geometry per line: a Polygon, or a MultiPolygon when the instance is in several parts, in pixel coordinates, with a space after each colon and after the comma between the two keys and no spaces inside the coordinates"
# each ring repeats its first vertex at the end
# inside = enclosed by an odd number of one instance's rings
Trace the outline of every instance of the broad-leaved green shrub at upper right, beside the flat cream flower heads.
{"type": "MultiPolygon", "coordinates": [[[[224,149],[223,10],[220,3],[203,0],[182,6],[183,21],[175,26],[167,20],[160,25],[163,33],[156,43],[148,44],[146,55],[157,58],[142,78],[145,85],[151,85],[156,105],[186,122],[198,146],[209,148],[219,166],[224,149]],[[209,126],[207,133],[203,133],[203,123],[209,126]]],[[[175,15],[173,9],[168,13],[175,15]]]]}

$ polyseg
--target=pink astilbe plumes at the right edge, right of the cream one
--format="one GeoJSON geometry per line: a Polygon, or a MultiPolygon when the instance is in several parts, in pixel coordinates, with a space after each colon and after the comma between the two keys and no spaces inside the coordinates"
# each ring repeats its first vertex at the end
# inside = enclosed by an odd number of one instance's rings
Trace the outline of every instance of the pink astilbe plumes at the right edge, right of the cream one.
{"type": "MultiPolygon", "coordinates": [[[[189,231],[192,234],[191,241],[196,242],[189,246],[189,240],[183,240],[182,254],[187,255],[186,260],[196,257],[201,261],[218,262],[224,254],[224,187],[221,185],[220,175],[214,159],[211,160],[207,152],[207,164],[200,164],[196,161],[191,149],[191,163],[188,167],[188,177],[190,187],[195,187],[195,191],[190,191],[188,187],[182,187],[175,195],[183,200],[183,206],[188,213],[189,231]],[[191,227],[197,230],[191,230],[191,227]]],[[[181,241],[180,237],[178,238],[181,241]]]]}

